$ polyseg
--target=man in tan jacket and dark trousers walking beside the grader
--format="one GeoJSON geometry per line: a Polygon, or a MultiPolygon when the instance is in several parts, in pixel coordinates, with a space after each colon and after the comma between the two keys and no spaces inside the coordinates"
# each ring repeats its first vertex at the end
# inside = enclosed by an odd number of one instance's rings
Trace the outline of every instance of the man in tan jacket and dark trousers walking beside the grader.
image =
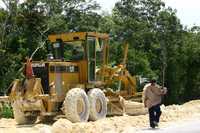
{"type": "Polygon", "coordinates": [[[158,126],[161,110],[162,96],[167,93],[167,88],[162,88],[156,84],[156,80],[151,80],[150,83],[144,86],[143,89],[143,102],[144,106],[149,111],[150,126],[155,128],[158,126]]]}

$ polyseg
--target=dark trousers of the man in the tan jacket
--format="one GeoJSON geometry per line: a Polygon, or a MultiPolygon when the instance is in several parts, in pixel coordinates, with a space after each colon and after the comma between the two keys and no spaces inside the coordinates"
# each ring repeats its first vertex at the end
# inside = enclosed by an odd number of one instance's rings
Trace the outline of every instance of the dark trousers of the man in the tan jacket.
{"type": "Polygon", "coordinates": [[[149,121],[152,128],[155,128],[155,122],[159,123],[161,113],[160,104],[149,108],[149,121]]]}

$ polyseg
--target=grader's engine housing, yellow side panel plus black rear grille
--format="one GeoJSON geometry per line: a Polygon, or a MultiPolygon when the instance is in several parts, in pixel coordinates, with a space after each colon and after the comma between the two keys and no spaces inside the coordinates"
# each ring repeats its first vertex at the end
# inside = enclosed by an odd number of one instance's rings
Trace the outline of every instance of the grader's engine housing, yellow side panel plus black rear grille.
{"type": "Polygon", "coordinates": [[[33,62],[32,68],[36,78],[41,78],[44,93],[49,93],[50,87],[58,96],[63,95],[73,84],[80,83],[80,62],[33,62]]]}

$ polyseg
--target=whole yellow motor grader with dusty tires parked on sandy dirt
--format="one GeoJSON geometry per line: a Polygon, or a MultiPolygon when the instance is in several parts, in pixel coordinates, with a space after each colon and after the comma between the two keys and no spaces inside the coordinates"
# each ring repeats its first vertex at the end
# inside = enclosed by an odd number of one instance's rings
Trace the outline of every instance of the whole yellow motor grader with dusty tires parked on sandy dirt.
{"type": "Polygon", "coordinates": [[[57,115],[71,122],[95,121],[120,108],[119,95],[135,96],[136,79],[125,68],[128,45],[123,62],[111,67],[108,43],[108,34],[96,32],[49,35],[47,59],[28,59],[25,79],[13,81],[9,90],[16,122],[57,115]]]}

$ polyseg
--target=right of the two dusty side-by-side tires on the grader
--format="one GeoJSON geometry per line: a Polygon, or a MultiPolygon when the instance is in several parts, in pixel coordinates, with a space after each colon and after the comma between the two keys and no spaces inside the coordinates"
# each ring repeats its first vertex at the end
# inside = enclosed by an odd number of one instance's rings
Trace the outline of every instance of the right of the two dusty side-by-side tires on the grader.
{"type": "Polygon", "coordinates": [[[102,90],[98,88],[91,89],[88,92],[90,101],[90,115],[89,120],[96,121],[105,118],[107,115],[107,99],[102,90]],[[96,109],[97,100],[100,102],[100,111],[96,109]]]}

